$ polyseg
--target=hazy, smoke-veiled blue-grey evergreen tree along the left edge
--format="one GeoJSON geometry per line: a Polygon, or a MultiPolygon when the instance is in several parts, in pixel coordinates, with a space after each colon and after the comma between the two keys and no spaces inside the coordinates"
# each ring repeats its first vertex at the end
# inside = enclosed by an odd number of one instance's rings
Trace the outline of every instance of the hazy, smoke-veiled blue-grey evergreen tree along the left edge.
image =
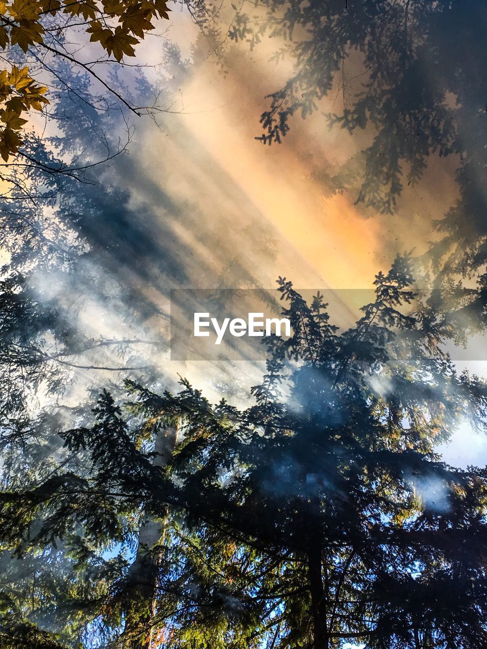
{"type": "MultiPolygon", "coordinates": [[[[177,58],[174,48],[173,53],[177,58]]],[[[0,280],[1,478],[3,486],[8,484],[11,488],[39,484],[53,476],[66,461],[69,463],[58,430],[66,426],[70,417],[81,424],[86,418],[86,408],[83,404],[57,407],[56,402],[75,384],[80,368],[128,371],[132,365],[140,365],[135,344],[142,342],[151,350],[163,344],[139,339],[95,338],[77,323],[77,310],[83,308],[86,299],[123,300],[133,317],[132,323],[142,322],[149,317],[148,313],[155,312],[156,306],[148,304],[140,295],[135,299],[131,288],[122,289],[113,278],[114,263],[119,267],[121,256],[136,254],[128,249],[129,239],[133,239],[134,245],[144,245],[149,240],[147,224],[136,222],[128,206],[127,192],[112,185],[114,169],[110,169],[109,162],[105,168],[97,167],[97,178],[88,172],[89,164],[88,167],[84,164],[96,154],[103,156],[107,147],[116,149],[118,132],[127,124],[116,112],[96,110],[86,101],[90,96],[88,79],[72,73],[69,66],[60,64],[60,67],[70,83],[68,89],[60,88],[56,93],[56,108],[59,116],[72,116],[74,112],[77,118],[62,119],[59,129],[62,137],[40,141],[32,135],[25,145],[45,165],[62,166],[56,154],[76,156],[84,171],[79,177],[63,173],[46,176],[38,165],[27,169],[13,167],[14,190],[0,201],[0,243],[8,253],[0,280]],[[73,94],[73,88],[79,93],[73,94]],[[93,141],[95,133],[105,134],[105,138],[93,141]],[[87,137],[91,147],[88,151],[87,137]],[[108,178],[110,184],[105,182],[108,178]],[[116,215],[113,209],[106,209],[114,203],[118,207],[116,215]],[[116,238],[112,236],[115,216],[119,223],[133,224],[125,238],[123,233],[116,238]],[[137,236],[132,236],[134,232],[137,236]],[[114,288],[118,289],[115,296],[110,295],[114,288]],[[90,354],[106,349],[114,350],[119,361],[113,364],[87,361],[90,354]],[[132,362],[133,359],[136,361],[132,362]]],[[[142,77],[138,92],[140,96],[152,92],[142,77]]],[[[156,251],[153,252],[155,258],[156,251]]],[[[160,263],[169,265],[170,262],[167,256],[160,263]]],[[[88,415],[90,407],[91,404],[88,415]]],[[[79,463],[71,468],[77,474],[82,473],[79,463]]],[[[136,541],[138,528],[131,533],[132,541],[136,541]]],[[[71,541],[21,552],[21,557],[12,556],[13,546],[2,543],[0,591],[5,635],[1,642],[5,646],[17,646],[16,643],[57,646],[57,641],[49,636],[51,632],[58,633],[60,643],[82,641],[88,646],[94,637],[100,636],[94,620],[94,611],[98,610],[96,602],[101,593],[106,594],[105,583],[116,581],[129,565],[131,549],[127,549],[126,556],[116,553],[105,559],[94,556],[93,548],[83,543],[82,537],[71,541]],[[73,602],[79,606],[75,615],[70,615],[73,602]],[[29,619],[25,617],[27,612],[29,619]],[[94,620],[91,625],[90,620],[94,620]],[[43,631],[38,631],[36,625],[43,631]]],[[[116,543],[112,536],[110,543],[116,543]]],[[[106,633],[109,635],[110,631],[106,633]]]]}

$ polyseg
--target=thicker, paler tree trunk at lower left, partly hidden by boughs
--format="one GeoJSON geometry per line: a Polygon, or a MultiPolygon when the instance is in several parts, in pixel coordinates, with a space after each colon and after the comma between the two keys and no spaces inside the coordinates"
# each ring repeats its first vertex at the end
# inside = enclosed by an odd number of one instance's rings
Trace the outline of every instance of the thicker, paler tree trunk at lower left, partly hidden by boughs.
{"type": "MultiPolygon", "coordinates": [[[[164,467],[173,454],[177,441],[177,427],[160,430],[155,440],[153,464],[164,467]]],[[[138,537],[137,554],[129,570],[129,593],[125,629],[121,636],[123,649],[151,649],[153,620],[156,613],[158,574],[166,535],[168,509],[162,519],[144,520],[138,537]]]]}

